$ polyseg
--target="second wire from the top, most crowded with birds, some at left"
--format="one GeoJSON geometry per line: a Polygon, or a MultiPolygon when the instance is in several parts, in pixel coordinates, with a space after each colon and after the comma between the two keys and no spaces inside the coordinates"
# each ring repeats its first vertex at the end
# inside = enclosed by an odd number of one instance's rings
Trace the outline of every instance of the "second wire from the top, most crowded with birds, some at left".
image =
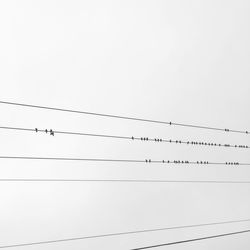
{"type": "Polygon", "coordinates": [[[249,148],[247,145],[231,145],[231,144],[222,144],[222,143],[213,143],[213,142],[201,142],[201,141],[184,141],[184,140],[171,140],[171,139],[162,139],[162,138],[149,138],[149,137],[134,137],[134,136],[121,136],[121,135],[103,135],[95,133],[81,133],[81,132],[72,132],[72,131],[59,131],[52,129],[38,129],[38,128],[20,128],[20,127],[7,127],[1,126],[0,129],[6,130],[16,130],[16,131],[29,131],[29,132],[42,132],[49,133],[50,135],[55,134],[65,134],[65,135],[77,135],[77,136],[92,136],[92,137],[102,137],[110,139],[122,139],[122,140],[133,140],[133,141],[151,141],[151,142],[166,142],[166,143],[175,143],[175,144],[187,144],[187,145],[197,145],[197,146],[213,146],[213,147],[231,147],[231,148],[249,148]]]}

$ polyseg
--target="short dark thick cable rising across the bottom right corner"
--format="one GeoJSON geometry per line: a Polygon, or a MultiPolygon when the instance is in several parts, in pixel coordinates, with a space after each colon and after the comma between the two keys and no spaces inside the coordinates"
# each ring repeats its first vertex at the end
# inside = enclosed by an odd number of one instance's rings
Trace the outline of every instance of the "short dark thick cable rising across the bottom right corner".
{"type": "Polygon", "coordinates": [[[218,235],[212,235],[212,236],[206,236],[206,237],[194,238],[194,239],[188,239],[188,240],[174,241],[174,242],[169,242],[169,243],[164,243],[164,244],[159,244],[159,245],[133,248],[130,250],[143,250],[143,249],[156,248],[156,247],[172,246],[172,245],[177,245],[177,244],[183,244],[183,243],[189,243],[189,242],[201,241],[201,240],[209,240],[209,239],[215,239],[215,238],[243,234],[243,233],[250,233],[250,230],[231,232],[231,233],[226,233],[226,234],[218,234],[218,235]]]}

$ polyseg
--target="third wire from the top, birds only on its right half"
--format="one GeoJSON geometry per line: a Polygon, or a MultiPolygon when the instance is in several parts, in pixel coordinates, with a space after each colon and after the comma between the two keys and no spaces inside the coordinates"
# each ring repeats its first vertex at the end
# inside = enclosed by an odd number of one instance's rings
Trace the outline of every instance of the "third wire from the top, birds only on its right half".
{"type": "Polygon", "coordinates": [[[97,158],[94,159],[94,158],[34,157],[34,156],[0,156],[0,159],[250,166],[250,163],[239,163],[239,162],[208,162],[208,161],[183,161],[183,160],[166,161],[166,160],[151,160],[151,159],[130,160],[130,159],[97,159],[97,158]]]}

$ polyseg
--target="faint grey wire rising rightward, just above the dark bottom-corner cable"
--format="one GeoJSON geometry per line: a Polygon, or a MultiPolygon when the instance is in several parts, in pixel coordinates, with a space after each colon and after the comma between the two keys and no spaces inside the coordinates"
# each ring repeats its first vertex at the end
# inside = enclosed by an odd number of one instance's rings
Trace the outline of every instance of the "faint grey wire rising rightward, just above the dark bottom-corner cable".
{"type": "MultiPolygon", "coordinates": [[[[121,235],[129,235],[129,234],[139,234],[139,233],[149,233],[149,232],[167,231],[167,230],[184,229],[184,228],[195,228],[195,227],[204,227],[204,226],[232,224],[232,223],[249,222],[249,221],[250,221],[250,219],[223,221],[223,222],[212,222],[212,223],[205,223],[205,224],[193,224],[193,225],[184,225],[184,226],[174,226],[174,227],[165,227],[165,228],[156,228],[156,229],[144,229],[144,230],[137,230],[137,231],[127,231],[127,232],[119,232],[119,233],[110,233],[110,234],[101,234],[101,235],[83,236],[83,237],[75,237],[75,238],[66,238],[66,239],[57,239],[57,240],[48,240],[48,241],[5,245],[5,246],[0,246],[0,248],[24,247],[24,246],[33,246],[33,245],[60,243],[60,242],[68,242],[68,241],[76,241],[76,240],[95,239],[95,238],[103,238],[103,237],[111,237],[111,236],[121,236],[121,235]]],[[[140,249],[143,249],[143,248],[140,248],[140,249]]]]}

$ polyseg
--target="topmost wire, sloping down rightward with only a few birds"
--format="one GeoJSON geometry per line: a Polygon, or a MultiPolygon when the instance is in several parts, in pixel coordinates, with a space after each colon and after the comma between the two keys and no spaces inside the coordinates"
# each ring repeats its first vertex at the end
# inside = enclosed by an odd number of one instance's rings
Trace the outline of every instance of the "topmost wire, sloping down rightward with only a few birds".
{"type": "Polygon", "coordinates": [[[217,130],[217,131],[233,132],[233,133],[241,133],[241,134],[249,134],[250,133],[247,130],[243,131],[243,130],[234,130],[234,129],[227,129],[227,128],[217,128],[217,127],[210,127],[210,126],[176,123],[176,122],[166,122],[166,121],[159,121],[159,120],[152,120],[152,119],[144,119],[144,118],[128,117],[128,116],[120,116],[120,115],[110,115],[110,114],[79,111],[79,110],[72,110],[72,109],[62,109],[62,108],[40,106],[40,105],[32,105],[32,104],[24,104],[24,103],[17,103],[17,102],[0,101],[0,103],[1,104],[7,104],[7,105],[29,107],[29,108],[47,109],[47,110],[54,110],[54,111],[70,112],[70,113],[77,113],[77,114],[84,114],[84,115],[94,115],[94,116],[117,118],[117,119],[124,119],[124,120],[133,120],[133,121],[141,121],[141,122],[158,123],[158,124],[181,126],[181,127],[190,127],[190,128],[207,129],[207,130],[217,130]]]}

